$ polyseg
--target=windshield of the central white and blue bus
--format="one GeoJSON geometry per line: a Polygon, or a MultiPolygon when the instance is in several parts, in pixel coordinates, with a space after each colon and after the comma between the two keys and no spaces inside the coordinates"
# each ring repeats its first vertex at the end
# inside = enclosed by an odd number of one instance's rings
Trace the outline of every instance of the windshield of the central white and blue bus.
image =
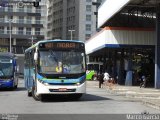
{"type": "Polygon", "coordinates": [[[44,74],[79,74],[85,72],[85,54],[81,51],[40,51],[39,72],[44,74]]]}

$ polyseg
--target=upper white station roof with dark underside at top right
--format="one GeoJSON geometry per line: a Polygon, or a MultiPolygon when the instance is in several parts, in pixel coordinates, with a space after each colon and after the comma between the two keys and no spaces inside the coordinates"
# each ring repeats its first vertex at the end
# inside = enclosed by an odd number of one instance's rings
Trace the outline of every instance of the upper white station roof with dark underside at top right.
{"type": "Polygon", "coordinates": [[[156,6],[159,4],[160,0],[106,0],[98,9],[98,27],[106,26],[118,13],[155,18],[156,6]]]}

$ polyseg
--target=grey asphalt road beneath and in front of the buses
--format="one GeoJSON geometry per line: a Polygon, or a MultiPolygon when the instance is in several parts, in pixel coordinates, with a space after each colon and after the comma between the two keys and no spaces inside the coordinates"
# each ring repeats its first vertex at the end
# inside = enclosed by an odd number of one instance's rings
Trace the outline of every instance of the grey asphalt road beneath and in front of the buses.
{"type": "Polygon", "coordinates": [[[150,114],[160,111],[146,107],[141,102],[115,96],[87,83],[87,94],[78,101],[59,97],[47,97],[46,101],[35,101],[27,96],[23,79],[15,91],[0,90],[1,114],[150,114]]]}

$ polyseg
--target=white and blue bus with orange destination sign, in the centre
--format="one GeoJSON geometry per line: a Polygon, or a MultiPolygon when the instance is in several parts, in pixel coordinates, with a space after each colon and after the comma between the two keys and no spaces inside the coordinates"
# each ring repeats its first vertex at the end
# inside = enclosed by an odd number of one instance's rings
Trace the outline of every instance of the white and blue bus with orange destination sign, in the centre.
{"type": "Polygon", "coordinates": [[[39,41],[25,50],[25,87],[28,96],[42,100],[46,94],[80,98],[86,93],[86,55],[83,42],[39,41]]]}

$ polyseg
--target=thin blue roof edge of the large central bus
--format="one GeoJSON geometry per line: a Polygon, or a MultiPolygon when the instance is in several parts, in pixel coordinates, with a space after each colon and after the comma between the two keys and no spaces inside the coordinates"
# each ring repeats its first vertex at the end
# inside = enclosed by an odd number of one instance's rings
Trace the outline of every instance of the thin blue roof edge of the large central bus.
{"type": "Polygon", "coordinates": [[[27,48],[25,50],[25,52],[28,52],[29,50],[35,48],[36,46],[38,46],[40,43],[47,43],[47,42],[62,42],[62,41],[65,41],[65,42],[77,42],[77,43],[84,43],[82,41],[78,41],[78,40],[60,40],[60,39],[56,39],[56,40],[41,40],[41,41],[38,41],[36,44],[34,44],[33,46],[27,48]]]}

